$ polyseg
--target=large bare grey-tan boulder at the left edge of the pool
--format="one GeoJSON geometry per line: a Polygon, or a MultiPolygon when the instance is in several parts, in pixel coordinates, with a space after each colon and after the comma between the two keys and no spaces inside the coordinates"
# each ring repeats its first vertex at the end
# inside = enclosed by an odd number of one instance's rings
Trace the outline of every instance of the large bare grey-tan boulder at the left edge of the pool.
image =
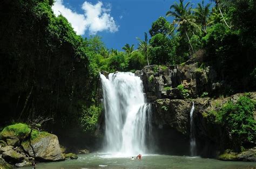
{"type": "Polygon", "coordinates": [[[36,140],[31,141],[32,147],[29,145],[29,142],[23,142],[23,149],[29,153],[31,157],[34,157],[33,151],[35,152],[35,157],[38,160],[42,161],[59,161],[65,160],[65,157],[60,150],[58,137],[47,133],[42,135],[36,140]]]}

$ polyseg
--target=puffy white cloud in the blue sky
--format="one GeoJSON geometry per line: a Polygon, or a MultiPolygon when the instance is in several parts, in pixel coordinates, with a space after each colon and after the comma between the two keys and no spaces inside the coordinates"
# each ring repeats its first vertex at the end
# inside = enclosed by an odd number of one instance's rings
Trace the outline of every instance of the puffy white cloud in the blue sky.
{"type": "Polygon", "coordinates": [[[57,0],[52,6],[52,10],[56,16],[60,13],[69,20],[73,29],[77,34],[85,34],[88,30],[89,34],[96,34],[101,31],[118,31],[118,27],[111,17],[111,4],[107,4],[106,8],[103,7],[102,2],[93,5],[90,2],[84,2],[82,5],[84,14],[79,14],[67,8],[63,4],[63,0],[57,0]]]}

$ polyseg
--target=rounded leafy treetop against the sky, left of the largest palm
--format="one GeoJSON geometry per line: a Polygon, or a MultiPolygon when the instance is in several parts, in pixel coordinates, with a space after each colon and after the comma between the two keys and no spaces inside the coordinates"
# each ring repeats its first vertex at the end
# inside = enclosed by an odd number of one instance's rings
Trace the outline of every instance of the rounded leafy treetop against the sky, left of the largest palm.
{"type": "Polygon", "coordinates": [[[173,26],[164,17],[159,17],[155,22],[152,23],[149,33],[151,37],[155,36],[158,33],[167,36],[172,31],[173,26]]]}

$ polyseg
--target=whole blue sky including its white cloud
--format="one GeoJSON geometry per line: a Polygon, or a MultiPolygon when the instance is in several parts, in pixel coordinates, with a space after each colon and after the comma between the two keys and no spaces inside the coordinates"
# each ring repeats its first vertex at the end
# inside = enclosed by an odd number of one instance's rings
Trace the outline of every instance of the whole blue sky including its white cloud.
{"type": "MultiPolygon", "coordinates": [[[[98,35],[107,48],[122,50],[125,44],[138,46],[137,37],[144,39],[152,23],[165,17],[178,0],[55,0],[52,10],[60,13],[82,37],[98,35]]],[[[187,2],[187,1],[185,1],[187,2]]],[[[196,6],[201,0],[192,0],[196,6]]],[[[205,0],[205,4],[209,3],[205,0]]],[[[172,22],[171,17],[167,17],[172,22]]]]}

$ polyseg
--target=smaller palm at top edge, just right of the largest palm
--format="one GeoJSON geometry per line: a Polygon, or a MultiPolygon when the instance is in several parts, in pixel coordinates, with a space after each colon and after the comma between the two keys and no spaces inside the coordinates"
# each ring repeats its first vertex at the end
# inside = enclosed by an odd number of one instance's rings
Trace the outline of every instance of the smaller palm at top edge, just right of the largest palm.
{"type": "Polygon", "coordinates": [[[194,11],[194,15],[197,17],[198,23],[202,25],[202,30],[206,32],[206,26],[207,26],[207,20],[208,20],[208,16],[210,15],[210,5],[211,4],[207,4],[206,6],[204,6],[204,0],[202,1],[202,3],[198,3],[197,4],[197,8],[193,9],[194,11]]]}

